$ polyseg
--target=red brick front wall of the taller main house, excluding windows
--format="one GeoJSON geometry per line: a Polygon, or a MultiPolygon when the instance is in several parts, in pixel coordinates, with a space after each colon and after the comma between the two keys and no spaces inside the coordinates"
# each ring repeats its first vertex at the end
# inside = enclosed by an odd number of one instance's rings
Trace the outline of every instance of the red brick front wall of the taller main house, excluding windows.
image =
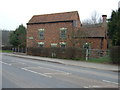
{"type": "Polygon", "coordinates": [[[73,30],[72,22],[57,22],[45,24],[33,24],[27,26],[27,47],[37,47],[38,42],[44,42],[45,47],[50,47],[50,43],[66,42],[67,46],[72,46],[71,34],[73,30]],[[67,28],[67,39],[60,39],[60,28],[67,28]],[[39,39],[38,29],[45,29],[44,40],[39,39]],[[29,39],[33,37],[33,39],[29,39]]]}

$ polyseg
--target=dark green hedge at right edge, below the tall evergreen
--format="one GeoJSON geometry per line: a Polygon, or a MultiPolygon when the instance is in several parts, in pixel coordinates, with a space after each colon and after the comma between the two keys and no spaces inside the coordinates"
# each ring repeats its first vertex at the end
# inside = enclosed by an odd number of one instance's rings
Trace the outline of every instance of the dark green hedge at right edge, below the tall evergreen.
{"type": "Polygon", "coordinates": [[[110,59],[113,64],[120,64],[120,46],[113,46],[110,49],[110,59]]]}

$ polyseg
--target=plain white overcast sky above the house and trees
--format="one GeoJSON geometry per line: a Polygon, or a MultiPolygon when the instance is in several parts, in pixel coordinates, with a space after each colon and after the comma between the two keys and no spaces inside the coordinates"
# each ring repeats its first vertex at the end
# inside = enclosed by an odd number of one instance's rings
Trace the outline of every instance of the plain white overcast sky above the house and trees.
{"type": "Polygon", "coordinates": [[[91,17],[94,11],[111,16],[120,0],[0,0],[0,29],[15,30],[33,15],[78,11],[80,20],[91,17]]]}

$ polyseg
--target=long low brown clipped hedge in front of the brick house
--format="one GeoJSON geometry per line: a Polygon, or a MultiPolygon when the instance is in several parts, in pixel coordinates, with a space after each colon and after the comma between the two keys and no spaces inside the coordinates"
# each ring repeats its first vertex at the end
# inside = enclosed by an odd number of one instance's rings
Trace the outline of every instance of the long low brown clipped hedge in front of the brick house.
{"type": "Polygon", "coordinates": [[[57,57],[57,58],[81,58],[83,57],[82,49],[79,48],[27,48],[27,54],[33,56],[43,57],[57,57]]]}

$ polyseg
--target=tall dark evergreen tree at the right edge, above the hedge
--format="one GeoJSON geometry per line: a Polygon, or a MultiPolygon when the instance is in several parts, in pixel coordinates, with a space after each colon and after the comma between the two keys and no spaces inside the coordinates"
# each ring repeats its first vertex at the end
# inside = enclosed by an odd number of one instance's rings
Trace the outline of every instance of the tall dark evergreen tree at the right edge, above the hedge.
{"type": "Polygon", "coordinates": [[[111,18],[108,20],[108,36],[112,40],[113,46],[120,45],[120,8],[112,11],[111,18]]]}

